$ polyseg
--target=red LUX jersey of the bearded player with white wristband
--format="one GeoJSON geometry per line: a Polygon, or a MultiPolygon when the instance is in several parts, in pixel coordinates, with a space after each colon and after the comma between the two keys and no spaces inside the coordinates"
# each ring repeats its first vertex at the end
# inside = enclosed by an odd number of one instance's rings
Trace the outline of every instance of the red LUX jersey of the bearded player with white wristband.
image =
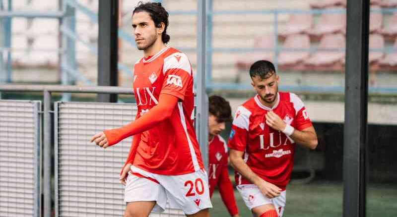
{"type": "MultiPolygon", "coordinates": [[[[257,95],[237,109],[228,145],[244,152],[244,161],[258,176],[285,189],[291,177],[295,142],[266,125],[269,110],[297,130],[312,126],[303,102],[295,94],[279,92],[273,108],[261,104],[257,95]]],[[[238,184],[251,184],[237,172],[235,177],[238,184]]]]}

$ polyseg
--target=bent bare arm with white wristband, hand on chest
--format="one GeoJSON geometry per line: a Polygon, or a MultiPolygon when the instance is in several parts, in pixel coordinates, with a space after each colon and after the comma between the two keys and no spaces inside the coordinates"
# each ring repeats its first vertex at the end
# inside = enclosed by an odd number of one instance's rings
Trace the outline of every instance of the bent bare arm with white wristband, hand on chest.
{"type": "Polygon", "coordinates": [[[293,128],[292,126],[286,124],[276,113],[273,111],[269,111],[266,113],[266,124],[275,129],[283,132],[285,135],[289,136],[296,143],[310,148],[315,149],[318,144],[317,134],[314,130],[314,127],[310,124],[310,126],[298,130],[293,128]]]}

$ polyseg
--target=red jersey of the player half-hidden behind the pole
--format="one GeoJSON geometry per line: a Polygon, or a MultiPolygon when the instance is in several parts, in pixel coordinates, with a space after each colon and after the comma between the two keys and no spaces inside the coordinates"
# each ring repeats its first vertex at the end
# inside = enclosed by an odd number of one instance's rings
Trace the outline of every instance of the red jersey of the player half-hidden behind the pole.
{"type": "Polygon", "coordinates": [[[209,142],[208,156],[209,196],[212,197],[215,187],[218,186],[223,203],[229,211],[230,216],[234,216],[239,211],[234,198],[233,184],[230,181],[227,169],[228,148],[226,141],[221,136],[214,136],[212,141],[209,142]]]}

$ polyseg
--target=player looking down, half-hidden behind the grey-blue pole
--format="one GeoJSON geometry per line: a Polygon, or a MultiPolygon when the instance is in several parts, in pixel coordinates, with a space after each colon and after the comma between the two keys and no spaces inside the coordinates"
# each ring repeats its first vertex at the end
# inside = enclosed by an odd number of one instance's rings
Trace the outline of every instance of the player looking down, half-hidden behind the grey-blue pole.
{"type": "Polygon", "coordinates": [[[217,186],[230,216],[239,217],[233,185],[227,169],[228,148],[225,140],[219,135],[225,129],[225,122],[232,119],[230,104],[220,96],[211,96],[208,99],[208,108],[209,196],[212,197],[217,186]]]}

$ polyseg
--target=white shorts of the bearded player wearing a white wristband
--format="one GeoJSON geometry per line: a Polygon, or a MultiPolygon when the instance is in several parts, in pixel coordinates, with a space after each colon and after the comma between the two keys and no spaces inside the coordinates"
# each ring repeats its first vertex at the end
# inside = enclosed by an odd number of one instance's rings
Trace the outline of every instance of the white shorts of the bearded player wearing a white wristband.
{"type": "Polygon", "coordinates": [[[279,196],[269,199],[263,195],[261,190],[254,184],[238,185],[237,190],[240,192],[245,205],[247,205],[250,210],[265,204],[273,204],[276,208],[278,217],[282,217],[285,207],[286,191],[282,191],[279,196]]]}

